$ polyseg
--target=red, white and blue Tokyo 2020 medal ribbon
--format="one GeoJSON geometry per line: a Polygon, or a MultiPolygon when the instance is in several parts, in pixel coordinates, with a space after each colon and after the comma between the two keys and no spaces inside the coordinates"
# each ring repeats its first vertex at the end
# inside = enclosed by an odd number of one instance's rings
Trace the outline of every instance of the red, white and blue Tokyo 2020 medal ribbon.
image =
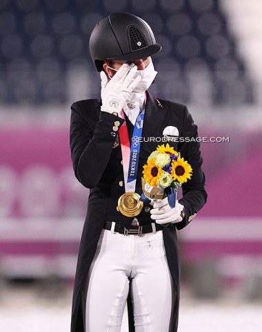
{"type": "MultiPolygon", "coordinates": [[[[137,182],[137,170],[139,167],[139,153],[141,147],[141,136],[143,131],[143,117],[145,114],[145,102],[143,108],[139,111],[137,120],[134,124],[131,144],[128,138],[128,127],[123,122],[119,128],[119,137],[121,142],[121,151],[123,156],[123,177],[125,183],[125,192],[135,192],[137,182]]],[[[123,110],[121,117],[125,120],[123,110]]]]}

